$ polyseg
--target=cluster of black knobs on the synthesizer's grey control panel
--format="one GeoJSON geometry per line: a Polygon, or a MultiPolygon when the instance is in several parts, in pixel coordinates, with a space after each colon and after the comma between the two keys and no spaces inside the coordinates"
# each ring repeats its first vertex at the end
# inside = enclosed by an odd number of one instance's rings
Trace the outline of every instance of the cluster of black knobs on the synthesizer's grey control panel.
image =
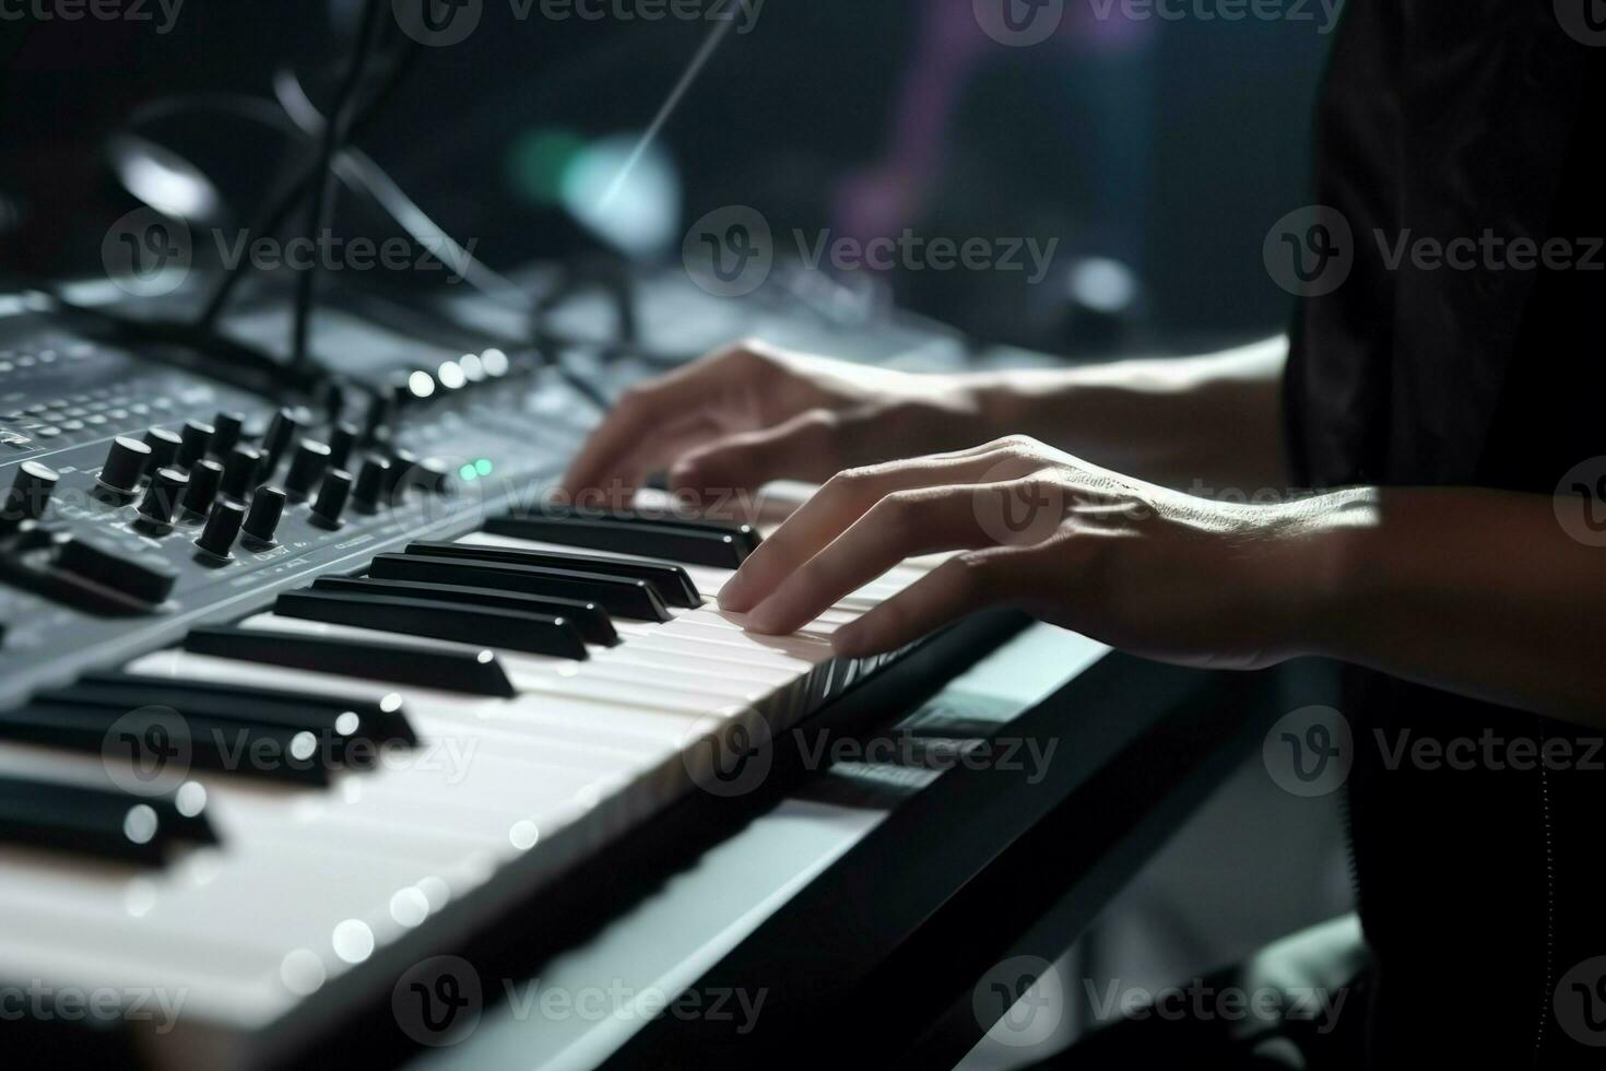
{"type": "Polygon", "coordinates": [[[207,520],[196,546],[228,559],[241,533],[271,546],[286,506],[307,501],[313,487],[318,496],[310,514],[316,525],[337,528],[352,501],[363,512],[377,512],[397,493],[398,477],[416,458],[405,450],[392,451],[393,466],[385,458],[366,458],[355,478],[345,466],[358,445],[379,437],[387,414],[387,408],[374,406],[363,429],[339,424],[329,443],[320,443],[300,438],[302,421],[294,411],[281,409],[268,426],[262,450],[239,442],[243,419],[228,413],[218,414],[215,424],[190,421],[178,434],[154,427],[143,440],[119,435],[101,469],[100,488],[114,501],[133,501],[149,472],[137,507],[138,523],[169,531],[178,509],[204,515],[207,520]],[[214,461],[209,453],[223,461],[214,461]],[[286,453],[291,462],[283,490],[265,487],[286,453]]]}

